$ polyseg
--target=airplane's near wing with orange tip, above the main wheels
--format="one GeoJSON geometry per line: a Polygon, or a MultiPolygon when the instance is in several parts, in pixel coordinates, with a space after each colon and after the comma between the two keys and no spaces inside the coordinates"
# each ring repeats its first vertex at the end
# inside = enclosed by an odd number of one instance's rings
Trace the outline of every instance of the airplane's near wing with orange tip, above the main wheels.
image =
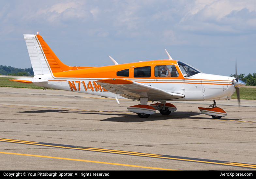
{"type": "Polygon", "coordinates": [[[148,101],[163,101],[183,98],[183,94],[166,92],[142,83],[122,78],[95,81],[108,91],[128,99],[148,98],[148,101]]]}

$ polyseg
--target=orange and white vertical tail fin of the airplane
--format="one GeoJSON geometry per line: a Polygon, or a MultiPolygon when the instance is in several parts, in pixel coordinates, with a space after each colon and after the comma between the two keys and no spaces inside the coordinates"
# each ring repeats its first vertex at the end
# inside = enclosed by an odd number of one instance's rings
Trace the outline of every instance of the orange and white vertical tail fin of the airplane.
{"type": "Polygon", "coordinates": [[[34,71],[34,75],[52,74],[75,70],[62,63],[47,45],[41,35],[23,34],[34,71]]]}

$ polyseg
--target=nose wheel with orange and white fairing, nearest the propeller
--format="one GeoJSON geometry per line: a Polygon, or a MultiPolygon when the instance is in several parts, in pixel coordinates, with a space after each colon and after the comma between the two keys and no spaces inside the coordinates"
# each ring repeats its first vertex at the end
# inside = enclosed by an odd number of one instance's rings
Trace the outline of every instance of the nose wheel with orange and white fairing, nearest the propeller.
{"type": "Polygon", "coordinates": [[[216,107],[215,100],[213,101],[213,104],[209,105],[209,107],[211,108],[198,107],[198,109],[202,114],[211,116],[213,119],[220,119],[221,117],[227,116],[227,113],[223,109],[216,107]]]}

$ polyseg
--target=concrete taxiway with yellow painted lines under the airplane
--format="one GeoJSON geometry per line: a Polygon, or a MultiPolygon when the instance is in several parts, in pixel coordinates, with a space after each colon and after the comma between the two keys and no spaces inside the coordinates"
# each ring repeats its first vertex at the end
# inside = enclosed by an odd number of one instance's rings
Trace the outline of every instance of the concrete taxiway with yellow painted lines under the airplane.
{"type": "Polygon", "coordinates": [[[143,119],[131,100],[1,87],[1,170],[256,169],[256,101],[217,101],[220,120],[197,108],[211,102],[172,103],[143,119]]]}

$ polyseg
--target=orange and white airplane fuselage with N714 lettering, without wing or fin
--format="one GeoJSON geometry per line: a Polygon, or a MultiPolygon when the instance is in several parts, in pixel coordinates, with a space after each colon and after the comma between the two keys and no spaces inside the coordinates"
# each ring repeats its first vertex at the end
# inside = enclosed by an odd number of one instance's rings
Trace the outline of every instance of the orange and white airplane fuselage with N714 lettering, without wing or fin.
{"type": "MultiPolygon", "coordinates": [[[[125,78],[167,92],[184,95],[184,98],[175,99],[175,101],[212,101],[231,98],[235,91],[234,77],[204,74],[194,69],[186,63],[176,60],[155,60],[103,67],[86,67],[79,70],[36,75],[34,79],[47,80],[48,82],[35,83],[35,85],[44,88],[104,97],[115,97],[116,94],[107,91],[95,81],[107,78],[125,78]],[[162,75],[163,73],[165,75],[162,75]],[[170,77],[168,77],[169,73],[171,73],[170,77]]],[[[118,98],[124,97],[118,96],[118,98]]]]}

